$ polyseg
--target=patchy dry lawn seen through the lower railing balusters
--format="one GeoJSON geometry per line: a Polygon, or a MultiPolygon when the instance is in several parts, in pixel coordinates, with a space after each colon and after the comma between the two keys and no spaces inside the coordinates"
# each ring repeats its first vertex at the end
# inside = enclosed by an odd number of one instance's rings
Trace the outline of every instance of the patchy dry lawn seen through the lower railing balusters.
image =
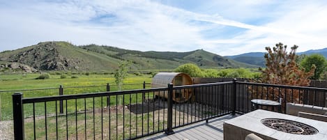
{"type": "MultiPolygon", "coordinates": [[[[163,114],[162,111],[164,110],[160,110],[160,114],[163,114]]],[[[94,112],[90,110],[81,111],[78,114],[68,114],[67,117],[49,116],[46,119],[47,122],[45,122],[44,117],[38,117],[35,125],[32,118],[26,118],[25,136],[26,139],[34,139],[33,129],[35,126],[36,139],[45,139],[45,137],[55,139],[56,134],[58,134],[59,139],[67,139],[67,137],[68,139],[93,139],[93,137],[96,139],[101,139],[101,137],[103,139],[123,139],[124,137],[126,139],[135,137],[136,134],[162,130],[163,123],[167,124],[167,120],[162,116],[158,120],[158,111],[152,111],[149,114],[144,113],[143,116],[142,114],[131,113],[128,109],[124,112],[125,114],[120,108],[117,113],[116,109],[110,109],[110,113],[108,108],[96,109],[94,112]],[[47,132],[45,132],[45,125],[47,132]],[[149,132],[147,128],[149,128],[149,132]]]]}

